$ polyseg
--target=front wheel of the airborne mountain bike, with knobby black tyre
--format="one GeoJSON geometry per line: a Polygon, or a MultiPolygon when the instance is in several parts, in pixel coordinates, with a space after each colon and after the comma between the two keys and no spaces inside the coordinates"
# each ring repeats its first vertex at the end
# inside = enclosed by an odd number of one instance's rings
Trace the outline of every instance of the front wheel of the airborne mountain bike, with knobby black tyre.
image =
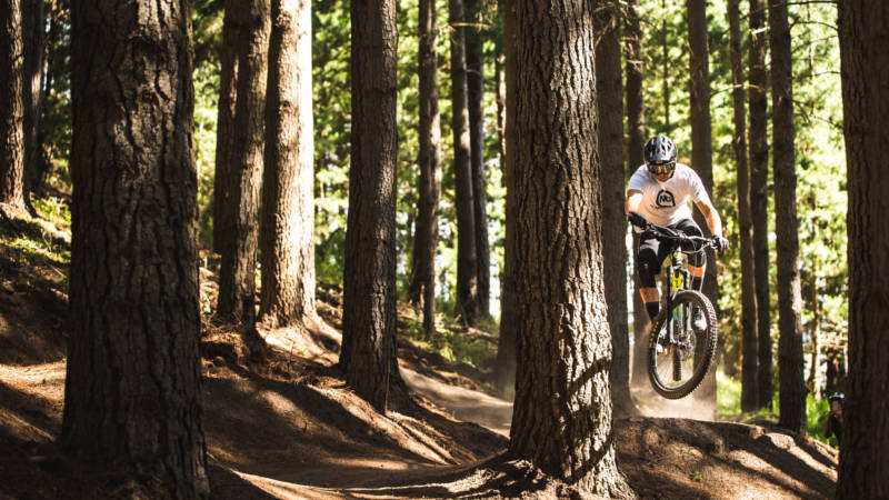
{"type": "Polygon", "coordinates": [[[648,376],[660,396],[679,399],[690,394],[703,380],[716,353],[716,311],[703,293],[680,290],[672,299],[672,310],[661,310],[655,318],[648,341],[648,376]],[[699,308],[706,328],[693,328],[692,311],[699,308]],[[673,324],[672,339],[668,323],[673,324]]]}

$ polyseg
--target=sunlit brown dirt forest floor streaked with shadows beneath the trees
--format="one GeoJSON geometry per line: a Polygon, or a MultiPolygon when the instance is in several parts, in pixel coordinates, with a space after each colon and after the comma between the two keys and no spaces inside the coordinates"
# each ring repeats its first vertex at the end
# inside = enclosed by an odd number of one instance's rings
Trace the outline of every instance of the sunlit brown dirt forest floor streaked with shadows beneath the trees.
{"type": "MultiPolygon", "coordinates": [[[[39,227],[14,230],[36,231],[50,247],[67,243],[39,227]]],[[[64,264],[24,247],[0,247],[0,499],[138,496],[126,479],[90,471],[57,447],[68,336],[64,264]]],[[[202,270],[206,294],[212,288],[202,270]]],[[[334,367],[336,293],[321,290],[318,309],[323,321],[306,330],[260,329],[268,346],[261,356],[230,329],[203,326],[213,498],[579,497],[528,462],[502,458],[511,403],[495,397],[471,366],[401,340],[409,390],[392,397],[384,416],[374,411],[334,367]]],[[[693,409],[635,396],[640,417],[616,420],[613,442],[640,498],[833,497],[832,448],[770,424],[665,418],[693,409]]]]}

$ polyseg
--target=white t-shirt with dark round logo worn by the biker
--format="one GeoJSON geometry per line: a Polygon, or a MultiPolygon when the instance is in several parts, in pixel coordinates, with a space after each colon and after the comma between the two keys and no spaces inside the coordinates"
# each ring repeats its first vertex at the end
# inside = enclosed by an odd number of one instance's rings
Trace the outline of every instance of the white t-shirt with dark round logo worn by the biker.
{"type": "MultiPolygon", "coordinates": [[[[627,191],[641,191],[642,202],[639,213],[649,222],[670,226],[682,219],[691,219],[688,199],[695,202],[710,201],[701,178],[691,167],[676,163],[676,171],[667,182],[658,182],[645,164],[636,169],[627,184],[627,191]]],[[[635,228],[641,231],[639,228],[635,228]]]]}

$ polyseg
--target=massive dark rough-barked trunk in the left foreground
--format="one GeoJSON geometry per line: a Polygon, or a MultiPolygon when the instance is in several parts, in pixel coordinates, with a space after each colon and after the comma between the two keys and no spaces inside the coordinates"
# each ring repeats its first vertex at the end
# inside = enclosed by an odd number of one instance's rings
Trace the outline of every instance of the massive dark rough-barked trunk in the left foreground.
{"type": "Polygon", "coordinates": [[[61,443],[152,498],[209,494],[187,3],[72,3],[71,336],[61,443]],[[139,37],[133,37],[133,33],[139,37]]]}

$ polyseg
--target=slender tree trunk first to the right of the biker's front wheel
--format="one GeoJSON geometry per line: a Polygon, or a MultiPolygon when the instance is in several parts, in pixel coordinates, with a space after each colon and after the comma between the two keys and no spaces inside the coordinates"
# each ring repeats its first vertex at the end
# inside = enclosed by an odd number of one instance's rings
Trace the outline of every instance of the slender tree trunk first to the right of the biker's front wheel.
{"type": "Polygon", "coordinates": [[[741,258],[741,410],[757,409],[757,303],[753,281],[752,222],[750,221],[750,177],[747,169],[747,120],[741,67],[740,0],[729,0],[731,80],[735,101],[735,160],[738,178],[738,232],[741,258]]]}

